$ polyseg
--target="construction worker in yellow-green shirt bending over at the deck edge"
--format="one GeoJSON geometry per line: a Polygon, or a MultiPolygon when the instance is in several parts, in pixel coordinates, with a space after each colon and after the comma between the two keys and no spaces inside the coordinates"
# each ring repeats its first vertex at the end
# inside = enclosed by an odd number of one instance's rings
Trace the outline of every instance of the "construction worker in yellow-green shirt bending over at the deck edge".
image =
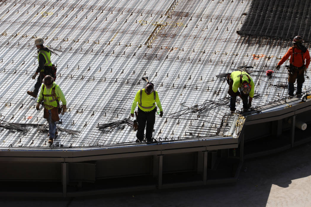
{"type": "Polygon", "coordinates": [[[235,101],[237,96],[242,99],[244,111],[252,107],[255,86],[253,79],[246,72],[234,71],[231,74],[228,74],[227,81],[229,84],[228,94],[230,95],[230,110],[232,112],[235,111],[235,101]],[[238,88],[240,89],[240,92],[238,91],[238,88]]]}

